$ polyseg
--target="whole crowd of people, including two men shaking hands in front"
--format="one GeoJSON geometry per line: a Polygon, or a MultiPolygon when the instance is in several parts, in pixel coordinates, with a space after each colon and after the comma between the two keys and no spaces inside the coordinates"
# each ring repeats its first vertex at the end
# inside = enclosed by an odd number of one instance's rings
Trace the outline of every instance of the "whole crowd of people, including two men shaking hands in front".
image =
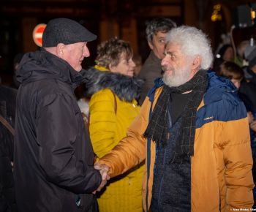
{"type": "Polygon", "coordinates": [[[256,46],[216,57],[200,29],[154,18],[144,63],[113,37],[83,69],[95,39],[50,20],[0,85],[0,211],[252,211],[256,46]]]}

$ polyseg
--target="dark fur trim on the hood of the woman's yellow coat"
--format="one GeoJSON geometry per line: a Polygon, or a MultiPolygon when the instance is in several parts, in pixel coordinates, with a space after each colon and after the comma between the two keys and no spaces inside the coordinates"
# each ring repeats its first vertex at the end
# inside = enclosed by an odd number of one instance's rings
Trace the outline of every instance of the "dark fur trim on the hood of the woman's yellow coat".
{"type": "Polygon", "coordinates": [[[87,78],[85,83],[85,95],[91,97],[97,91],[104,88],[109,88],[119,99],[132,102],[133,99],[138,99],[143,86],[143,80],[135,77],[127,77],[110,71],[99,71],[94,67],[83,72],[87,78]]]}

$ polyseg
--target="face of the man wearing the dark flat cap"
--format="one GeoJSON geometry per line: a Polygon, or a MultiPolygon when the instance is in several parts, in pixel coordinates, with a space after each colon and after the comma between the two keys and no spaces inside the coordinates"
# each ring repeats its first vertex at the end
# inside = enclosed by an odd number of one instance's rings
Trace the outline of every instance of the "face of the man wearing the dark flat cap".
{"type": "Polygon", "coordinates": [[[87,42],[76,42],[74,44],[64,45],[63,55],[61,58],[67,61],[69,65],[80,72],[82,69],[83,58],[90,56],[89,49],[86,46],[87,42]]]}

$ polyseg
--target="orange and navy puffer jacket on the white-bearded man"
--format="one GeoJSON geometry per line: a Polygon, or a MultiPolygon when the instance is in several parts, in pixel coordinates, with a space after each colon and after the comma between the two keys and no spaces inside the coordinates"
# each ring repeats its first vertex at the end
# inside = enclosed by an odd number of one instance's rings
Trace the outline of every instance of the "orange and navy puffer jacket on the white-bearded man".
{"type": "MultiPolygon", "coordinates": [[[[157,173],[154,173],[156,145],[147,141],[143,133],[161,91],[162,80],[159,80],[143,103],[140,115],[129,126],[127,137],[99,161],[107,164],[110,175],[115,176],[146,158],[143,176],[145,211],[150,208],[154,174],[157,173]]],[[[196,116],[194,156],[191,160],[192,212],[252,208],[254,183],[249,124],[245,107],[235,93],[230,81],[208,72],[208,88],[196,116]]],[[[162,199],[159,200],[161,207],[162,199]]]]}

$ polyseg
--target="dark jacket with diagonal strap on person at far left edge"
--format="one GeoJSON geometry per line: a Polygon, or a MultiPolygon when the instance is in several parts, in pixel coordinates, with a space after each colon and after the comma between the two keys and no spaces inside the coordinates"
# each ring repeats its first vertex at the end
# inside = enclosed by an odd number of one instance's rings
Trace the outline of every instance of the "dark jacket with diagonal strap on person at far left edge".
{"type": "MultiPolygon", "coordinates": [[[[0,115],[14,127],[17,91],[0,85],[0,115]]],[[[0,211],[17,211],[11,162],[13,135],[0,123],[0,211]]]]}

